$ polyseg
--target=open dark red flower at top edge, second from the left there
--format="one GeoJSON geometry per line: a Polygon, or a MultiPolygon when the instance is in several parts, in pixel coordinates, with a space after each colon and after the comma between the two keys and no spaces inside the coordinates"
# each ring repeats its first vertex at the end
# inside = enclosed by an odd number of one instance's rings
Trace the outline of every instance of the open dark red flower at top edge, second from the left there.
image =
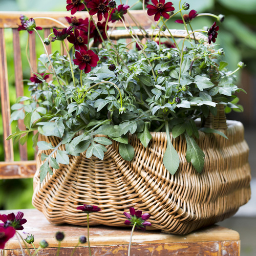
{"type": "Polygon", "coordinates": [[[105,19],[108,18],[109,16],[109,10],[110,8],[108,7],[109,5],[109,0],[92,0],[91,2],[88,3],[87,7],[91,8],[89,11],[90,15],[94,15],[97,13],[98,20],[102,20],[102,16],[104,16],[105,19]]]}

